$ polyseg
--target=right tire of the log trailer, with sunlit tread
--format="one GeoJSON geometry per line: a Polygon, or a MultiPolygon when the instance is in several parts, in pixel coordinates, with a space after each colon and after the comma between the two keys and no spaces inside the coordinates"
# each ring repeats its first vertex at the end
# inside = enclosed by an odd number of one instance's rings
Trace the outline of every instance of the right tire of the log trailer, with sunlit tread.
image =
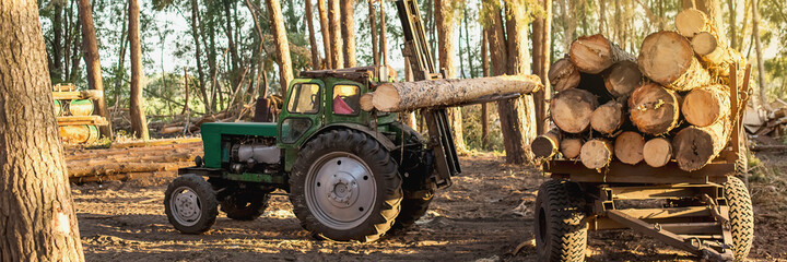
{"type": "Polygon", "coordinates": [[[754,210],[751,196],[743,181],[728,176],[724,184],[725,198],[729,206],[732,251],[736,261],[745,261],[754,240],[754,210]]]}

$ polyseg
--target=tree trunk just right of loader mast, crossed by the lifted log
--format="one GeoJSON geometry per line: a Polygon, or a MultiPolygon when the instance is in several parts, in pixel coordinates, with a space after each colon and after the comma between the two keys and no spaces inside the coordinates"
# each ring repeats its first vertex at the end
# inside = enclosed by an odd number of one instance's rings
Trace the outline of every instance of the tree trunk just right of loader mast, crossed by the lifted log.
{"type": "MultiPolygon", "coordinates": [[[[446,79],[456,79],[456,62],[454,53],[456,46],[454,45],[454,17],[455,10],[450,1],[435,0],[435,21],[437,23],[437,41],[439,68],[445,71],[446,79]]],[[[465,135],[462,134],[462,117],[461,107],[450,108],[451,133],[454,134],[454,144],[459,153],[467,152],[465,146],[465,135]]]]}

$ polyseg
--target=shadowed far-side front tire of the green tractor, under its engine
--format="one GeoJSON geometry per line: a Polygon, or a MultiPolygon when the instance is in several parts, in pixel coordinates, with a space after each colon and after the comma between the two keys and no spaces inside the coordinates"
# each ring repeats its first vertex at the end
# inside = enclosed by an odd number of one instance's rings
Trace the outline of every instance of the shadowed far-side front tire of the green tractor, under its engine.
{"type": "Polygon", "coordinates": [[[221,211],[235,221],[254,221],[268,207],[269,199],[270,195],[263,192],[234,192],[221,202],[221,211]]]}

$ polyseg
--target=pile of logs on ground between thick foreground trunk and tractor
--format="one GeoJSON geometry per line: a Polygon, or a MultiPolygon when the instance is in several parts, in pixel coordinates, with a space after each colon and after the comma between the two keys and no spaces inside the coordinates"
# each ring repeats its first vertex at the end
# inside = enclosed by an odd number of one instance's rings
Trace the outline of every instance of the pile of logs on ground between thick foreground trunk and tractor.
{"type": "Polygon", "coordinates": [[[67,148],[64,153],[69,179],[77,183],[175,177],[178,168],[193,166],[198,155],[202,155],[201,142],[174,140],[105,150],[67,148]]]}

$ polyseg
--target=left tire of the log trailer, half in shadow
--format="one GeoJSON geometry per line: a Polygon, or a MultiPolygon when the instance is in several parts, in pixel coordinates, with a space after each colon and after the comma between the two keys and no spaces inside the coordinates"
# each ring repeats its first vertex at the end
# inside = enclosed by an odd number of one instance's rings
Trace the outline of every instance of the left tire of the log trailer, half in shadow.
{"type": "Polygon", "coordinates": [[[535,216],[537,261],[585,261],[585,199],[575,184],[564,180],[542,183],[535,216]]]}

